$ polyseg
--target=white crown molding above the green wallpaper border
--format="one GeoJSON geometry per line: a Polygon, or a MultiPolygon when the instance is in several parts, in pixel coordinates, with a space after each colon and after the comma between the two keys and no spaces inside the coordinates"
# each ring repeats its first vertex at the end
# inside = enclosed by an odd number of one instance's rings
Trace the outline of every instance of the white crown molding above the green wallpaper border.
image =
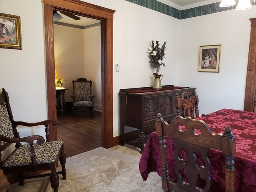
{"type": "Polygon", "coordinates": [[[161,3],[164,3],[166,5],[169,5],[173,8],[178,9],[178,10],[186,10],[186,9],[190,9],[190,8],[194,8],[194,7],[199,7],[199,6],[203,6],[203,5],[208,5],[208,4],[220,2],[221,0],[205,0],[205,1],[202,1],[202,2],[193,3],[193,4],[186,5],[186,6],[179,6],[179,5],[171,2],[170,0],[157,0],[157,1],[159,1],[161,3]]]}

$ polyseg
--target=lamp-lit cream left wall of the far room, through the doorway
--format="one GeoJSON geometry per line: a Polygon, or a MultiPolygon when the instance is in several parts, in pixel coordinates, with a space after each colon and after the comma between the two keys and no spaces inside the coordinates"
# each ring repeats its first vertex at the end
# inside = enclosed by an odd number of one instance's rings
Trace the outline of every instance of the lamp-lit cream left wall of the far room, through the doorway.
{"type": "Polygon", "coordinates": [[[73,80],[84,77],[83,30],[54,24],[54,57],[58,77],[66,79],[65,102],[72,102],[73,80]]]}

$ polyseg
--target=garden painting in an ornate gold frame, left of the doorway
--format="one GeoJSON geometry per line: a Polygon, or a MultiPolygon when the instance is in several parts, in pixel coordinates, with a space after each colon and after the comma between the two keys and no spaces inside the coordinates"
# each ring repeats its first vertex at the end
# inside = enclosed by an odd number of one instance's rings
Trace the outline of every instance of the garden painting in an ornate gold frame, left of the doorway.
{"type": "Polygon", "coordinates": [[[20,16],[0,13],[0,48],[22,49],[20,16]]]}

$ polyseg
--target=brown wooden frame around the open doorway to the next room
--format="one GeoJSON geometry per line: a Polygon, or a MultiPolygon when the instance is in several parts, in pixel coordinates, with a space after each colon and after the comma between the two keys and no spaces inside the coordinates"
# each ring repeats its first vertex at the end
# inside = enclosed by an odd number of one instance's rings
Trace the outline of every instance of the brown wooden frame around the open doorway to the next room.
{"type": "MultiPolygon", "coordinates": [[[[53,10],[63,10],[101,21],[102,146],[113,146],[113,14],[114,10],[80,0],[43,0],[46,46],[48,118],[56,120],[53,10]]],[[[57,140],[56,126],[49,126],[50,140],[57,140]]],[[[73,141],[75,142],[75,141],[73,141]]]]}

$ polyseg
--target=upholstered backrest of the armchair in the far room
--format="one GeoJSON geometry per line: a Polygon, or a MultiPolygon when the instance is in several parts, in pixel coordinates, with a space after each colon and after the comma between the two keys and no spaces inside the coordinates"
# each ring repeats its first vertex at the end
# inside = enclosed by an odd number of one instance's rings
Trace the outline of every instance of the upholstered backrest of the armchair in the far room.
{"type": "Polygon", "coordinates": [[[92,81],[86,78],[78,78],[73,80],[73,94],[75,96],[75,102],[78,101],[91,101],[92,95],[92,81]]]}

